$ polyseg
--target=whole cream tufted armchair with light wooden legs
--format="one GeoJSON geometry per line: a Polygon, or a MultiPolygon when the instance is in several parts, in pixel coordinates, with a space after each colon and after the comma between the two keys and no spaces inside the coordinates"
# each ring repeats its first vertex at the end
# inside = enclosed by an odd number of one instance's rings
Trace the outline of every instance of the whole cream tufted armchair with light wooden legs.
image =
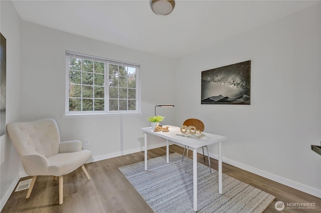
{"type": "Polygon", "coordinates": [[[59,204],[63,203],[63,175],[83,165],[90,157],[90,150],[83,150],[79,140],[60,142],[60,134],[54,119],[7,124],[7,131],[21,157],[28,175],[33,176],[26,198],[30,197],[37,176],[59,177],[59,204]]]}

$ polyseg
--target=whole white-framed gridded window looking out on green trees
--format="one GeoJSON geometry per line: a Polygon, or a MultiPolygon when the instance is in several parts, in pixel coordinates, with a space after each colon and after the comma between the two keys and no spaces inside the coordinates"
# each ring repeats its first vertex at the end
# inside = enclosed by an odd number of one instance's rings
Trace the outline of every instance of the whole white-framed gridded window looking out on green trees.
{"type": "Polygon", "coordinates": [[[140,111],[139,65],[66,51],[66,114],[140,111]]]}

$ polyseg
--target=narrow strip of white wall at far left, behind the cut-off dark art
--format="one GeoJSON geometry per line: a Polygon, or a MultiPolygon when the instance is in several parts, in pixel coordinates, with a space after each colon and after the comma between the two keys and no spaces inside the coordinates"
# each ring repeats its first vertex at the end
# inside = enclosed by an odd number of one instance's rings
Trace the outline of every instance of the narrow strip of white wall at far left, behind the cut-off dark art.
{"type": "MultiPolygon", "coordinates": [[[[21,19],[11,1],[0,1],[1,33],[7,40],[7,93],[6,123],[20,117],[20,22],[21,19]]],[[[0,141],[0,202],[1,209],[7,202],[20,176],[20,158],[9,136],[0,141]]]]}

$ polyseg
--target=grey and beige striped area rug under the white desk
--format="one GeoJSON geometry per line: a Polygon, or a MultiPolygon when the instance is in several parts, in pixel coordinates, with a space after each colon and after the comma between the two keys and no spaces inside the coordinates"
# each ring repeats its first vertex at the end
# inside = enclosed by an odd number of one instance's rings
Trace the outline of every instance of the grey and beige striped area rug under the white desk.
{"type": "MultiPolygon", "coordinates": [[[[119,167],[154,212],[194,212],[193,160],[178,153],[119,167]]],[[[275,197],[223,173],[223,194],[218,192],[218,171],[198,162],[198,212],[262,212],[275,197]]]]}

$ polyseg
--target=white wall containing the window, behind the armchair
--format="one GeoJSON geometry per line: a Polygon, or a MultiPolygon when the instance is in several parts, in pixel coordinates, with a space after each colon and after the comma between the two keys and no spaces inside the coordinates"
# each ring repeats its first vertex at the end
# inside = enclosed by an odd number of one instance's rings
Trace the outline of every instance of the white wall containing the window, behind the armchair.
{"type": "MultiPolygon", "coordinates": [[[[84,148],[93,152],[92,160],[142,150],[140,128],[150,125],[146,117],[154,114],[155,105],[175,101],[175,60],[26,21],[22,21],[21,64],[20,120],[56,119],[62,140],[84,141],[89,138],[89,145],[84,148]],[[62,118],[65,112],[66,50],[140,64],[142,114],[62,118]]],[[[174,110],[168,108],[163,115],[167,122],[174,122],[174,110]]],[[[151,145],[164,144],[164,140],[154,139],[151,145]]]]}

